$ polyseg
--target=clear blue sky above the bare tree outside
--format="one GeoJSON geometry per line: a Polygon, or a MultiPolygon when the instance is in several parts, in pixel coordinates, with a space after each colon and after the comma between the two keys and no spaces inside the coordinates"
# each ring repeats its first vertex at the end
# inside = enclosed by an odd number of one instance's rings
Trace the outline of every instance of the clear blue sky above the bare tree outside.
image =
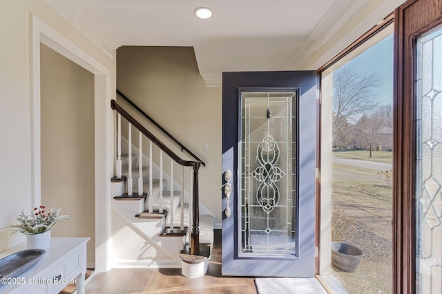
{"type": "Polygon", "coordinates": [[[381,105],[393,103],[393,35],[387,36],[369,50],[359,54],[343,65],[353,70],[376,72],[383,76],[383,84],[378,89],[381,105]]]}

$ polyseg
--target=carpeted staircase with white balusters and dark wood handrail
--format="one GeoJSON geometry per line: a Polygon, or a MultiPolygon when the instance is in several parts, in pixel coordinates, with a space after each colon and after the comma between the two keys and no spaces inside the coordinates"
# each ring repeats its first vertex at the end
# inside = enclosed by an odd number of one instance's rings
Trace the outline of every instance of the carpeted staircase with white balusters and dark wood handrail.
{"type": "Polygon", "coordinates": [[[115,101],[112,107],[117,111],[117,176],[111,179],[113,266],[182,267],[188,277],[204,274],[213,246],[214,218],[199,213],[198,169],[204,162],[183,160],[115,101]],[[122,147],[121,118],[127,120],[127,147],[122,147]],[[135,135],[139,132],[138,150],[133,130],[135,135]],[[147,151],[142,146],[146,142],[147,151]],[[160,153],[160,162],[154,162],[153,152],[160,153]],[[165,171],[168,160],[170,169],[165,171]],[[174,180],[176,174],[181,181],[174,180]]]}

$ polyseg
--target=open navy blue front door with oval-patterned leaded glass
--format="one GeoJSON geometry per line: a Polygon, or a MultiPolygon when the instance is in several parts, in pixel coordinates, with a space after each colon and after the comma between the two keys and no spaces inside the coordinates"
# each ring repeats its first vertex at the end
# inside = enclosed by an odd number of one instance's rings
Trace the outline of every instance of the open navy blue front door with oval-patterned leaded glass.
{"type": "Polygon", "coordinates": [[[222,274],[313,277],[316,72],[222,76],[222,274]]]}

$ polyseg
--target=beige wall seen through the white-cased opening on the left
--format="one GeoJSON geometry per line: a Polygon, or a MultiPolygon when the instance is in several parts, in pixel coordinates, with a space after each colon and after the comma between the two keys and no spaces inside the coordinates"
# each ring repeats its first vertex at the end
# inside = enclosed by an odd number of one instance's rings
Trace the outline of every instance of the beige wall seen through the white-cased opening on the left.
{"type": "Polygon", "coordinates": [[[95,262],[94,76],[41,45],[41,204],[71,219],[52,237],[89,237],[95,262]]]}

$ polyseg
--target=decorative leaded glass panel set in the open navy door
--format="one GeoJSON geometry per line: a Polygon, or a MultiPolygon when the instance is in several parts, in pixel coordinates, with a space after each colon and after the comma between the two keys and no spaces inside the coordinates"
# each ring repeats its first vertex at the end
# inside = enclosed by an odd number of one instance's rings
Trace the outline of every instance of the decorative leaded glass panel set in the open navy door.
{"type": "Polygon", "coordinates": [[[296,94],[240,94],[240,255],[296,255],[296,94]]]}

